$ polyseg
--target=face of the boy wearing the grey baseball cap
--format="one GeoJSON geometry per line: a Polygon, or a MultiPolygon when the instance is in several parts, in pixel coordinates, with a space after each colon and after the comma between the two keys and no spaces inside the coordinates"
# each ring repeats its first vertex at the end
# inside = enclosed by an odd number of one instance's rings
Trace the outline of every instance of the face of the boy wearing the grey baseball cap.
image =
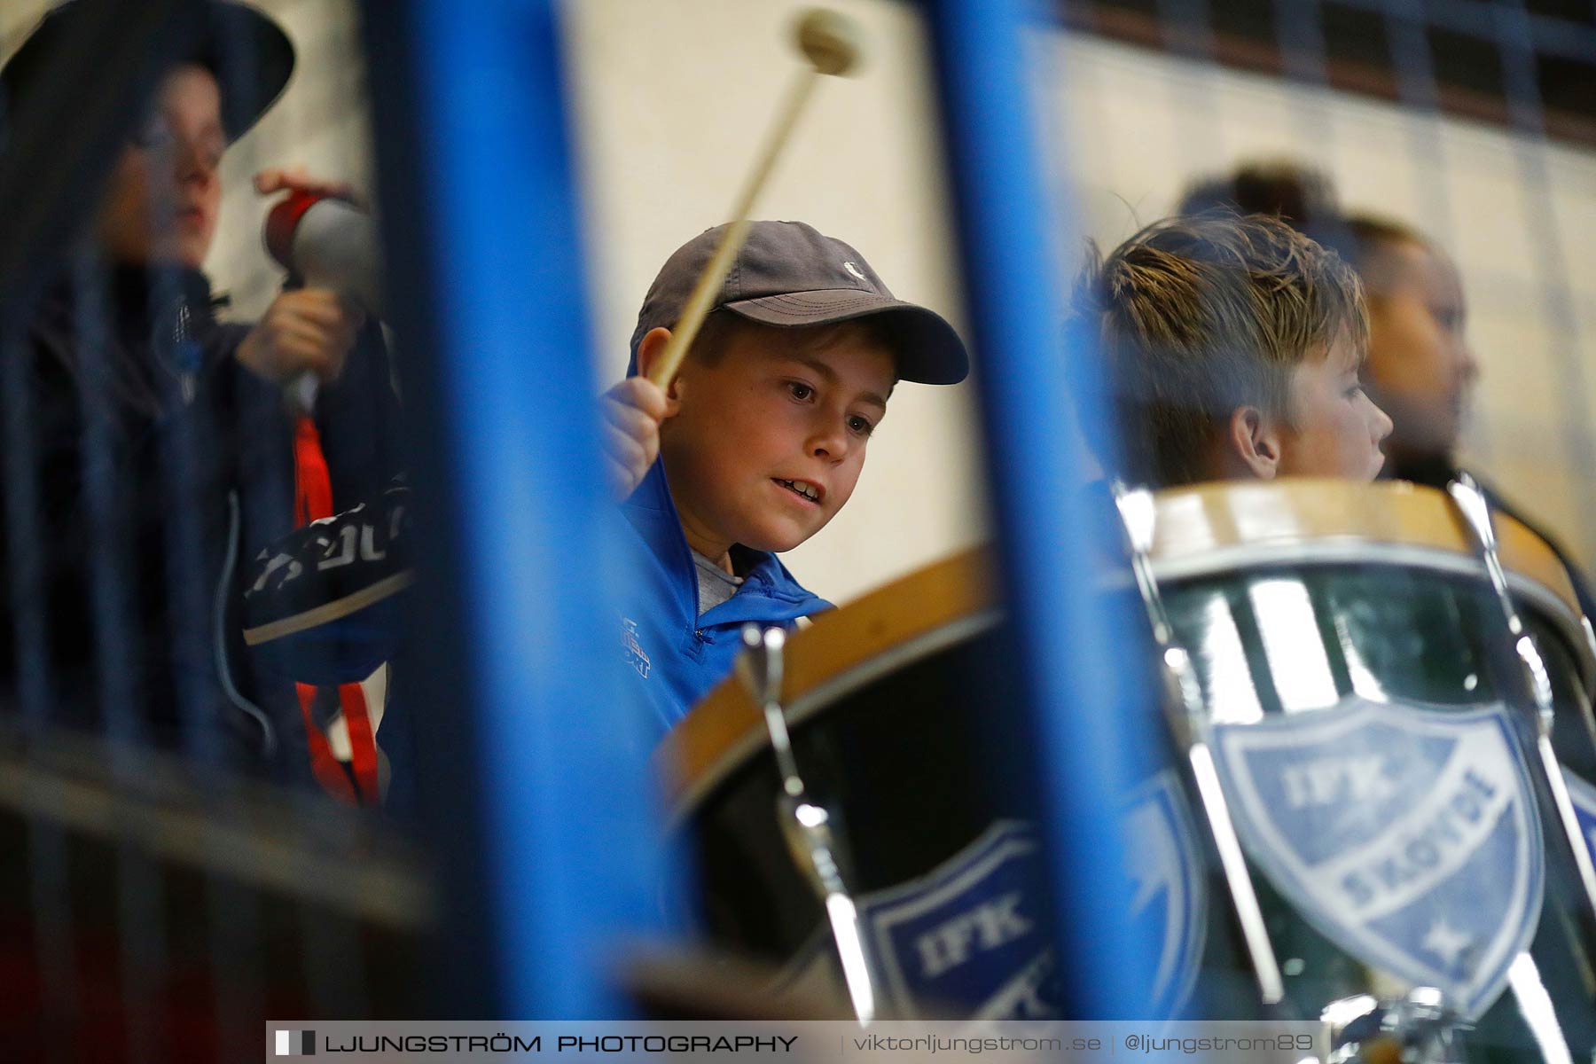
{"type": "Polygon", "coordinates": [[[661,429],[670,496],[694,550],[790,550],[854,493],[895,381],[862,329],[734,329],[713,364],[689,357],[661,429]]]}

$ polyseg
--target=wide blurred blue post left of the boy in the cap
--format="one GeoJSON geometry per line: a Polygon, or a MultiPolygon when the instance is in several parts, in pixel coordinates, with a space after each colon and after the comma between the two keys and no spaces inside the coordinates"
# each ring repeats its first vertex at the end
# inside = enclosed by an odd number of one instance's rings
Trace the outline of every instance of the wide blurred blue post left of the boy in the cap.
{"type": "Polygon", "coordinates": [[[453,810],[434,820],[445,938],[464,930],[455,964],[488,968],[452,1011],[618,1016],[606,964],[646,930],[659,868],[645,718],[610,668],[611,512],[555,3],[370,3],[365,32],[425,510],[415,662],[396,683],[415,684],[399,696],[423,735],[426,812],[453,810]]]}

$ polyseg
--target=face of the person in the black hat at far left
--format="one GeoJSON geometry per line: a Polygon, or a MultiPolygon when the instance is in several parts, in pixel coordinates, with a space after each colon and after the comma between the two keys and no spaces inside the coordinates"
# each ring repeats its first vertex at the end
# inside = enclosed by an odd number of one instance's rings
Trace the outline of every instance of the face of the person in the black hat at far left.
{"type": "Polygon", "coordinates": [[[99,212],[105,250],[126,263],[198,268],[215,234],[225,148],[215,78],[195,64],[177,67],[112,172],[99,212]]]}

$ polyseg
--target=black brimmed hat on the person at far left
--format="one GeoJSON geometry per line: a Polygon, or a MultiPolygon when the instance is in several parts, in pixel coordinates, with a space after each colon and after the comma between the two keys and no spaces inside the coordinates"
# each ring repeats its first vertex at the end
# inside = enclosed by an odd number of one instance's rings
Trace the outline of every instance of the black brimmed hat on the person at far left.
{"type": "MultiPolygon", "coordinates": [[[[222,91],[222,129],[238,140],[282,94],[294,72],[294,45],[270,18],[244,3],[211,0],[198,37],[174,64],[195,62],[215,75],[222,91]]],[[[51,8],[0,69],[0,100],[14,105],[49,67],[62,41],[80,37],[85,19],[104,8],[78,0],[51,8]]]]}

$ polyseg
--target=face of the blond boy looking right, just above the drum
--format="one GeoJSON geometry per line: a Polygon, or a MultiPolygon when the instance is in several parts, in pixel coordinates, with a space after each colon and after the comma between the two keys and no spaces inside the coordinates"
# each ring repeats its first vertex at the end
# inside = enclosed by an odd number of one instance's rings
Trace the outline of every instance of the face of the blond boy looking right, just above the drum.
{"type": "Polygon", "coordinates": [[[1374,480],[1392,420],[1358,378],[1358,351],[1342,333],[1323,359],[1291,373],[1291,428],[1280,440],[1280,475],[1374,480]]]}

